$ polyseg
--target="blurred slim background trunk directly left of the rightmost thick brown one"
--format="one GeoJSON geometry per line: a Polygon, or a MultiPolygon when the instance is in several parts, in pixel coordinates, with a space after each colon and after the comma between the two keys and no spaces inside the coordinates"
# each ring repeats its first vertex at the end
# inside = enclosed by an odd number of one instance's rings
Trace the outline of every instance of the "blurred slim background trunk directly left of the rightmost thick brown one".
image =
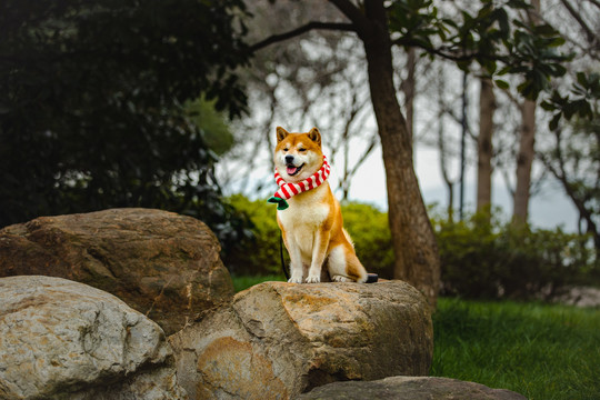
{"type": "Polygon", "coordinates": [[[491,207],[492,134],[496,96],[490,79],[482,78],[479,92],[479,136],[477,138],[477,211],[487,212],[491,207]]]}

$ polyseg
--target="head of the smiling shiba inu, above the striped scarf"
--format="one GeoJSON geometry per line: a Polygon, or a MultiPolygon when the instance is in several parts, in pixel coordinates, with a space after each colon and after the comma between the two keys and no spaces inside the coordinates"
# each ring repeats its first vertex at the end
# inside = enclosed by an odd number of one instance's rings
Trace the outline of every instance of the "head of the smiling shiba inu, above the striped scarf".
{"type": "Polygon", "coordinates": [[[290,133],[277,127],[274,164],[286,182],[309,178],[323,164],[321,133],[312,128],[307,133],[290,133]]]}

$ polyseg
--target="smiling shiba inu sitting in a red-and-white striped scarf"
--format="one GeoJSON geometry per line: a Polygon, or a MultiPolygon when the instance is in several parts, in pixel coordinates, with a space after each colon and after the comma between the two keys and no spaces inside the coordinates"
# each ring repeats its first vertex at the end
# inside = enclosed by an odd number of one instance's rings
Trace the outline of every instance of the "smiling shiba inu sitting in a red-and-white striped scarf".
{"type": "Polygon", "coordinates": [[[366,282],[367,271],[327,182],[319,130],[290,133],[278,127],[274,164],[280,190],[269,201],[279,203],[277,221],[291,259],[289,282],[320,282],[326,261],[332,281],[366,282]]]}

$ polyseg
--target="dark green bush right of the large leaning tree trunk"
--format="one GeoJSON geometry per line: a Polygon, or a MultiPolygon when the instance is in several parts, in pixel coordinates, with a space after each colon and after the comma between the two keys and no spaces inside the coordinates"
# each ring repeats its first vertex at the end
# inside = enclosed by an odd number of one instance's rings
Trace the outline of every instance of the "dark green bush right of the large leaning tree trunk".
{"type": "Polygon", "coordinates": [[[433,220],[442,294],[479,299],[543,299],[593,281],[593,251],[586,236],[514,227],[473,216],[433,220]]]}

